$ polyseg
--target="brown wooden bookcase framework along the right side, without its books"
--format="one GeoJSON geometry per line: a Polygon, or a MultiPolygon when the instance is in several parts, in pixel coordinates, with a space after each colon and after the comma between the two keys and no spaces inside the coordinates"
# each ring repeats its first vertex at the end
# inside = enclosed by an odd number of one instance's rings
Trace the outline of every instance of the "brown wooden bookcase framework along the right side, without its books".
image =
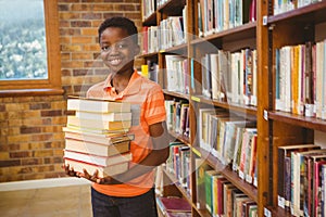
{"type": "MultiPolygon", "coordinates": [[[[298,5],[288,7],[276,5],[277,2],[273,0],[256,1],[255,21],[249,18],[241,25],[229,25],[229,28],[200,33],[200,16],[202,12],[200,5],[204,5],[204,2],[208,1],[164,1],[156,5],[153,13],[142,23],[143,26],[155,26],[160,25],[160,22],[168,16],[186,14],[186,27],[184,30],[188,33],[187,40],[170,48],[158,49],[155,52],[143,53],[139,56],[145,60],[145,64],[149,60],[158,64],[156,81],[164,89],[167,100],[184,100],[190,105],[189,138],[174,131],[171,132],[176,140],[190,146],[191,150],[190,194],[189,191],[178,186],[178,181],[174,180],[174,176],[166,170],[164,170],[164,180],[175,184],[166,186],[164,194],[186,197],[191,204],[192,216],[211,216],[209,210],[198,208],[196,205],[197,178],[195,159],[199,157],[203,158],[212,169],[220,171],[237,189],[255,202],[258,204],[258,216],[291,216],[289,210],[278,207],[277,182],[275,181],[278,176],[278,146],[314,143],[316,131],[326,133],[326,120],[308,117],[304,114],[281,112],[277,108],[275,53],[277,49],[285,46],[304,44],[308,41],[315,43],[326,38],[326,31],[323,30],[326,23],[326,1],[317,1],[306,5],[299,5],[300,3],[298,3],[298,5]],[[187,8],[186,12],[183,11],[184,8],[187,8]],[[285,8],[291,10],[283,11],[285,8]],[[241,101],[241,95],[240,100],[237,95],[235,97],[236,102],[227,97],[224,99],[212,99],[204,95],[202,89],[204,75],[202,74],[201,58],[218,52],[218,50],[228,51],[230,54],[244,52],[241,49],[250,49],[256,52],[256,99],[248,103],[246,100],[244,102],[241,101]],[[166,89],[170,81],[166,79],[166,55],[172,54],[189,60],[187,63],[189,74],[185,78],[188,79],[189,91],[176,92],[166,89]],[[223,108],[233,117],[242,117],[243,119],[255,122],[258,131],[258,187],[239,178],[239,175],[229,165],[224,165],[218,157],[201,146],[199,111],[203,107],[223,108]]],[[[145,4],[148,4],[148,0],[142,0],[142,5],[145,4]]],[[[234,94],[228,93],[228,95],[234,94]]]]}

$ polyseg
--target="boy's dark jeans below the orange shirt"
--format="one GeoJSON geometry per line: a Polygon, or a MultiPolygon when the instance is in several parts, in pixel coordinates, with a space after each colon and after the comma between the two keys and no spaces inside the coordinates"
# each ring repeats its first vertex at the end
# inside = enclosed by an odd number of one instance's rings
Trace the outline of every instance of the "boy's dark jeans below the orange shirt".
{"type": "Polygon", "coordinates": [[[154,188],[139,196],[108,196],[91,188],[93,217],[156,217],[154,188]]]}

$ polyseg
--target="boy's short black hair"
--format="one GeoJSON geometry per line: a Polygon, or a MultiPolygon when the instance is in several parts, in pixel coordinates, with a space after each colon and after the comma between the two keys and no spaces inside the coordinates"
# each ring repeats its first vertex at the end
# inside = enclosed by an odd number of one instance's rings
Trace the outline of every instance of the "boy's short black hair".
{"type": "Polygon", "coordinates": [[[133,37],[134,42],[137,44],[138,43],[138,38],[137,38],[137,27],[135,23],[126,17],[123,16],[114,16],[111,18],[106,18],[99,27],[99,42],[101,42],[101,35],[102,33],[109,28],[109,27],[118,27],[126,29],[128,35],[133,37]]]}

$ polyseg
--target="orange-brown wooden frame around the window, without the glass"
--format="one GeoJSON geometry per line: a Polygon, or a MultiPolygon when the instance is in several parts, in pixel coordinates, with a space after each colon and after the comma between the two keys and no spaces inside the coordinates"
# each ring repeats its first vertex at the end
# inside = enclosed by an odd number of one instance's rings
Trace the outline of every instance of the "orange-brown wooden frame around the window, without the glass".
{"type": "Polygon", "coordinates": [[[48,78],[0,80],[0,97],[62,94],[58,0],[43,0],[48,78]]]}

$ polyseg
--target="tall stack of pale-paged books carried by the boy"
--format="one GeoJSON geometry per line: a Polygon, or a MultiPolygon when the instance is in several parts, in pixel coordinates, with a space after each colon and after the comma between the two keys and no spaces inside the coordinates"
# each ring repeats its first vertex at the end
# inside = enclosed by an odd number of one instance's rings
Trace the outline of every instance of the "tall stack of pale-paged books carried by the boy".
{"type": "Polygon", "coordinates": [[[99,177],[124,173],[131,161],[128,133],[131,126],[130,104],[108,100],[70,98],[64,162],[75,171],[98,170],[99,177]]]}

